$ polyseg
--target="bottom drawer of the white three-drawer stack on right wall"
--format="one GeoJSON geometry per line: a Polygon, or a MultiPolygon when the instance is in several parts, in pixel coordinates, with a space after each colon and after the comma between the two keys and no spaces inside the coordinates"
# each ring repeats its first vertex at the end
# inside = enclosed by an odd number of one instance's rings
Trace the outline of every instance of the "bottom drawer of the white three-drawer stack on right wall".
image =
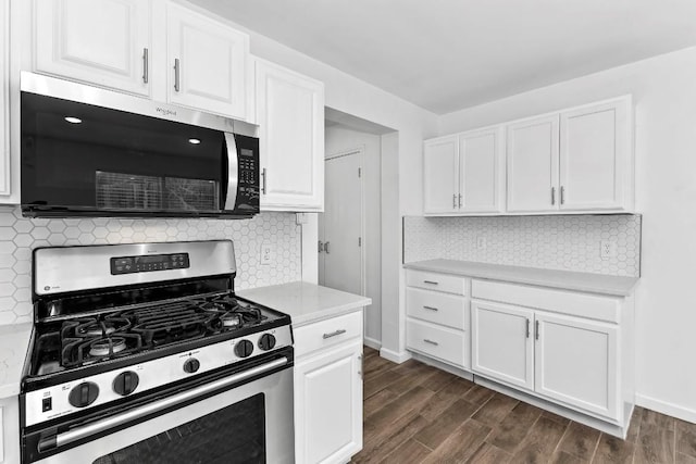
{"type": "Polygon", "coordinates": [[[408,319],[406,323],[407,348],[438,358],[458,367],[469,368],[467,334],[425,322],[408,319]]]}

